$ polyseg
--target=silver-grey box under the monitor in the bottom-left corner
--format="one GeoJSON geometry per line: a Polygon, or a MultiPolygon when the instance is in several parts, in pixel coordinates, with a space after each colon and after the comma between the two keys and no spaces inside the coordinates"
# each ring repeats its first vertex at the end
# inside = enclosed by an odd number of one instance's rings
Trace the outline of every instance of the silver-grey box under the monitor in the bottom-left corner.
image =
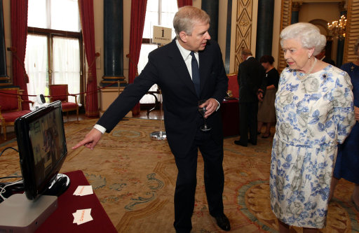
{"type": "Polygon", "coordinates": [[[25,194],[12,195],[0,204],[0,232],[34,232],[55,209],[55,196],[30,201],[25,194]]]}

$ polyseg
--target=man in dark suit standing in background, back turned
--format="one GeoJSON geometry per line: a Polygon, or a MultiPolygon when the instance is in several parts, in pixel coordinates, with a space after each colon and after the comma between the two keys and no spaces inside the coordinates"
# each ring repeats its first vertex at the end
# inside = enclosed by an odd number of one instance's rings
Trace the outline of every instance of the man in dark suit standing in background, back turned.
{"type": "Polygon", "coordinates": [[[239,133],[241,139],[234,141],[236,145],[248,146],[257,145],[257,113],[258,100],[263,98],[266,90],[264,84],[264,67],[252,57],[252,52],[247,48],[241,51],[243,62],[238,67],[239,85],[239,133]],[[248,140],[248,128],[250,139],[248,140]]]}

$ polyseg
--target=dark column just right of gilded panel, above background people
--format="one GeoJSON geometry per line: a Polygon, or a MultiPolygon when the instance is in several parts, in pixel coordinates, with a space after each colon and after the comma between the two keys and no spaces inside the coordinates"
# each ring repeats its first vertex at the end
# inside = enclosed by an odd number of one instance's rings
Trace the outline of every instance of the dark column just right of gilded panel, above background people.
{"type": "Polygon", "coordinates": [[[255,57],[272,55],[274,0],[259,0],[255,57]]]}

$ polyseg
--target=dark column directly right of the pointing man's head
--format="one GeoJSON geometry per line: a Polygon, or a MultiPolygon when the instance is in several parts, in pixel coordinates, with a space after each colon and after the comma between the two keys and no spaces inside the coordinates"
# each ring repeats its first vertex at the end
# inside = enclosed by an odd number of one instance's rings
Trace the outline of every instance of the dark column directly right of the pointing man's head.
{"type": "Polygon", "coordinates": [[[218,8],[219,0],[202,0],[201,8],[210,15],[210,37],[218,41],[218,8]]]}

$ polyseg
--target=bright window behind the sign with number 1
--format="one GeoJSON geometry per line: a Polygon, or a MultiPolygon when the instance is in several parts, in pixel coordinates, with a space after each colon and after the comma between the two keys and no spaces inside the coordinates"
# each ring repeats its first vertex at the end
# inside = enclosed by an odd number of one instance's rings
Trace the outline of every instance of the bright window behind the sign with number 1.
{"type": "MultiPolygon", "coordinates": [[[[173,17],[178,10],[177,0],[147,0],[146,18],[144,20],[144,30],[142,35],[142,45],[140,59],[137,69],[141,73],[148,62],[149,52],[158,48],[156,43],[151,43],[154,25],[172,28],[172,38],[175,38],[175,29],[173,29],[173,17]]],[[[157,85],[151,87],[150,91],[156,91],[157,85]]],[[[140,104],[154,103],[154,97],[146,94],[140,100],[140,104]]]]}

